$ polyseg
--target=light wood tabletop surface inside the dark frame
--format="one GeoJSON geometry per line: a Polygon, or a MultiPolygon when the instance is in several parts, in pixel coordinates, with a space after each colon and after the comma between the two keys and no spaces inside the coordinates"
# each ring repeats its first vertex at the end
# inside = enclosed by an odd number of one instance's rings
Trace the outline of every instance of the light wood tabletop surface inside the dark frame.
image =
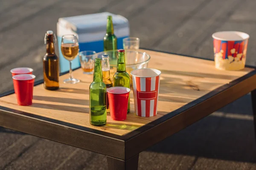
{"type": "Polygon", "coordinates": [[[148,68],[162,71],[156,116],[150,118],[136,116],[131,92],[131,113],[125,121],[113,121],[108,115],[108,123],[105,126],[90,125],[88,99],[89,85],[93,77],[83,74],[81,69],[73,72],[73,76],[81,80],[78,84],[64,84],[63,80],[68,77],[66,74],[60,77],[58,91],[47,91],[42,84],[35,86],[32,106],[18,106],[15,94],[0,98],[0,105],[122,136],[253,71],[251,68],[245,68],[243,71],[220,71],[215,69],[213,61],[156,51],[141,51],[151,56],[148,68]]]}

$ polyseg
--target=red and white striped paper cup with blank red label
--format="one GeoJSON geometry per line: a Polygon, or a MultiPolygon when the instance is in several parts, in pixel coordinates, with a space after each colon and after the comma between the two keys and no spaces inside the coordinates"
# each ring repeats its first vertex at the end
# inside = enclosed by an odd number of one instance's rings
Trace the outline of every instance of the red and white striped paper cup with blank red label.
{"type": "Polygon", "coordinates": [[[153,68],[131,71],[137,116],[151,117],[157,114],[160,74],[161,71],[153,68]]]}

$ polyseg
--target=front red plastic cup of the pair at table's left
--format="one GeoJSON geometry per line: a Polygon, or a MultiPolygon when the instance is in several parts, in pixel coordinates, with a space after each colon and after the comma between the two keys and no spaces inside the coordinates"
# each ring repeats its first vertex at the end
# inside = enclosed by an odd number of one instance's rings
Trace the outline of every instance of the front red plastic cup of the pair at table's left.
{"type": "Polygon", "coordinates": [[[18,105],[32,105],[35,75],[17,74],[12,79],[18,105]]]}

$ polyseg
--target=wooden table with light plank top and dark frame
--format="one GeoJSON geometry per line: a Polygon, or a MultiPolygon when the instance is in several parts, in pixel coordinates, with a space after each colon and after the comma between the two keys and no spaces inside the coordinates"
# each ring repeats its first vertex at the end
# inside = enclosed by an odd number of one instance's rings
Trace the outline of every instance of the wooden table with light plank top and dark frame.
{"type": "Polygon", "coordinates": [[[110,170],[135,170],[140,152],[251,91],[256,115],[254,68],[220,71],[213,61],[141,51],[151,56],[148,68],[162,72],[156,116],[136,116],[131,92],[131,113],[125,121],[108,115],[105,126],[90,125],[88,90],[93,77],[77,69],[73,74],[81,82],[64,84],[68,74],[63,74],[58,91],[35,82],[32,106],[18,106],[13,91],[0,95],[0,126],[104,154],[110,170]]]}

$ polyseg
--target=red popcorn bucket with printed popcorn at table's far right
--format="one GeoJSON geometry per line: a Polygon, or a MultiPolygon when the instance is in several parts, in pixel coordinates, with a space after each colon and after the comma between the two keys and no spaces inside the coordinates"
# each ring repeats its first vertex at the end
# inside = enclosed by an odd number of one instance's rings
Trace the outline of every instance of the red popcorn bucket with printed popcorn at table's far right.
{"type": "Polygon", "coordinates": [[[215,68],[244,69],[249,35],[239,31],[221,31],[212,34],[215,68]]]}

